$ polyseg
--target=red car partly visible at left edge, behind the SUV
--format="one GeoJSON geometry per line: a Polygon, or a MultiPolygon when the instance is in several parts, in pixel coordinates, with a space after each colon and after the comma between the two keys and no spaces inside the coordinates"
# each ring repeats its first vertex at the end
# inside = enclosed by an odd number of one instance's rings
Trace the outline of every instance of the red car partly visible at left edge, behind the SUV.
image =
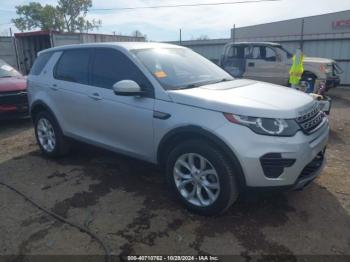
{"type": "Polygon", "coordinates": [[[27,80],[0,59],[0,120],[28,115],[27,80]]]}

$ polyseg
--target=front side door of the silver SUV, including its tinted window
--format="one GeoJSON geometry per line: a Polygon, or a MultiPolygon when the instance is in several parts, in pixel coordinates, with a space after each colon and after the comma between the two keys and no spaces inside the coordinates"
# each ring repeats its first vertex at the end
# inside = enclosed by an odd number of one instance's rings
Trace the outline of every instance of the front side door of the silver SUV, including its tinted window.
{"type": "Polygon", "coordinates": [[[139,158],[153,157],[153,87],[140,69],[112,48],[94,49],[90,71],[90,106],[86,117],[94,140],[113,150],[139,158]],[[133,80],[146,96],[119,96],[112,86],[133,80]]]}

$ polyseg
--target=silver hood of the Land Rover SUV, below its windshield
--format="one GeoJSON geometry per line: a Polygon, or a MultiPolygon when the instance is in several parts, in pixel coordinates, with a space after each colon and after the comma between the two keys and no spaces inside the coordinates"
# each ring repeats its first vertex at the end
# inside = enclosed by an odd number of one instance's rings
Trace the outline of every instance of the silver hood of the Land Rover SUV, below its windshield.
{"type": "Polygon", "coordinates": [[[314,103],[311,96],[288,87],[241,79],[168,93],[175,103],[268,118],[295,118],[314,103]]]}

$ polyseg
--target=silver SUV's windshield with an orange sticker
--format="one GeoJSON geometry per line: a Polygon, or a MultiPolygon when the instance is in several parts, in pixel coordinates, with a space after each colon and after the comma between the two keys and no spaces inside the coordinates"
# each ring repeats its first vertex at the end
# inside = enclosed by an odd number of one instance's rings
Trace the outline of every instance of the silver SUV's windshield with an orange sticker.
{"type": "Polygon", "coordinates": [[[220,67],[185,48],[154,48],[133,53],[166,90],[231,81],[220,67]]]}

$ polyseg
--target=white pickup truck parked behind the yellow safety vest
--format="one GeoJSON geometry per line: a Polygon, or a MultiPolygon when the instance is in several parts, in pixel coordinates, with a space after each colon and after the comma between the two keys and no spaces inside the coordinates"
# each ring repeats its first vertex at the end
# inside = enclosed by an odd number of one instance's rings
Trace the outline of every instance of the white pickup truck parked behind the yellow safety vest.
{"type": "MultiPolygon", "coordinates": [[[[259,81],[288,85],[289,69],[292,65],[292,54],[282,45],[270,42],[228,43],[224,47],[219,65],[237,78],[248,78],[259,81]]],[[[302,80],[313,85],[324,82],[326,90],[340,84],[341,68],[332,59],[304,58],[302,80]]]]}

